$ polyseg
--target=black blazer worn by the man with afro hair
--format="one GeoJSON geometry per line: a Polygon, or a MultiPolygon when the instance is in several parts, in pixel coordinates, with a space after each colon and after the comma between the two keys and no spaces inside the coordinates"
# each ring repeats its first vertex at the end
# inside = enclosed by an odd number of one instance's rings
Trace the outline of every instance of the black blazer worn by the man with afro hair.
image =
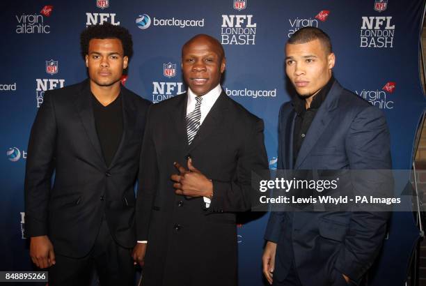
{"type": "Polygon", "coordinates": [[[121,88],[123,137],[102,156],[89,81],[46,91],[31,129],[25,174],[26,236],[48,235],[56,253],[83,257],[102,216],[121,246],[134,246],[134,183],[150,103],[121,88]],[[54,182],[52,186],[52,174],[54,182]]]}

